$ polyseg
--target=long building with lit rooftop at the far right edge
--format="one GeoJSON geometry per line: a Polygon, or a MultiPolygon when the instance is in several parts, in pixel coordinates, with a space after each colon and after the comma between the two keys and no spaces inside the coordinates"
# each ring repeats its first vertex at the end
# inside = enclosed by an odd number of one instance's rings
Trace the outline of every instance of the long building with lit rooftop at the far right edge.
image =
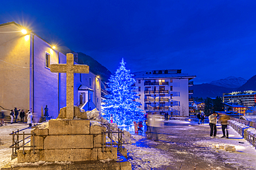
{"type": "Polygon", "coordinates": [[[253,107],[256,104],[256,91],[224,93],[223,103],[239,103],[239,105],[253,107]]]}

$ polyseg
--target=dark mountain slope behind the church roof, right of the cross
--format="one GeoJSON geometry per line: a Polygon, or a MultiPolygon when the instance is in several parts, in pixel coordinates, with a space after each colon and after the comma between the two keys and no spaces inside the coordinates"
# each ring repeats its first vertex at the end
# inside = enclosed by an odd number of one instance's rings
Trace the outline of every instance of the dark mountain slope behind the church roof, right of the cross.
{"type": "Polygon", "coordinates": [[[82,52],[77,52],[78,63],[90,66],[90,72],[95,75],[99,75],[102,81],[107,82],[111,76],[111,72],[106,67],[95,61],[91,56],[88,56],[82,52]]]}

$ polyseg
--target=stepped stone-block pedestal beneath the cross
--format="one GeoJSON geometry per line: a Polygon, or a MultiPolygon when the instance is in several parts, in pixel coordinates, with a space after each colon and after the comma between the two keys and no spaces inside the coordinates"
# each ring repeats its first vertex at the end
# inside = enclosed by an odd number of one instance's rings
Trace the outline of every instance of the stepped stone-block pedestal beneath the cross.
{"type": "Polygon", "coordinates": [[[117,159],[117,148],[104,147],[106,136],[102,132],[105,127],[91,126],[90,120],[49,120],[45,129],[33,129],[35,141],[31,136],[30,145],[33,148],[18,151],[18,163],[55,161],[87,161],[117,159]]]}

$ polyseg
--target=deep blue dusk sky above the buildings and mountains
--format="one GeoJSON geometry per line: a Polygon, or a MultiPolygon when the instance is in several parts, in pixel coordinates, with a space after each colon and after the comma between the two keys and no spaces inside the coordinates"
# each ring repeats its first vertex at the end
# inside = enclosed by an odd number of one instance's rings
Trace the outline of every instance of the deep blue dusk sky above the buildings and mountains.
{"type": "Polygon", "coordinates": [[[256,74],[256,1],[1,1],[49,43],[83,52],[114,73],[181,69],[194,83],[256,74]]]}

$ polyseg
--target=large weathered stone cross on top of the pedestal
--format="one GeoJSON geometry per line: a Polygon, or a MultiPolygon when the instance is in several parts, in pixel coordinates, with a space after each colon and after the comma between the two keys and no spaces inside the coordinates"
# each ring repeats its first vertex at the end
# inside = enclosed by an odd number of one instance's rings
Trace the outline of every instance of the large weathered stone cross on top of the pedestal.
{"type": "Polygon", "coordinates": [[[74,73],[89,74],[88,65],[74,65],[74,55],[66,54],[66,64],[51,64],[51,72],[66,73],[66,118],[74,118],[74,73]]]}

